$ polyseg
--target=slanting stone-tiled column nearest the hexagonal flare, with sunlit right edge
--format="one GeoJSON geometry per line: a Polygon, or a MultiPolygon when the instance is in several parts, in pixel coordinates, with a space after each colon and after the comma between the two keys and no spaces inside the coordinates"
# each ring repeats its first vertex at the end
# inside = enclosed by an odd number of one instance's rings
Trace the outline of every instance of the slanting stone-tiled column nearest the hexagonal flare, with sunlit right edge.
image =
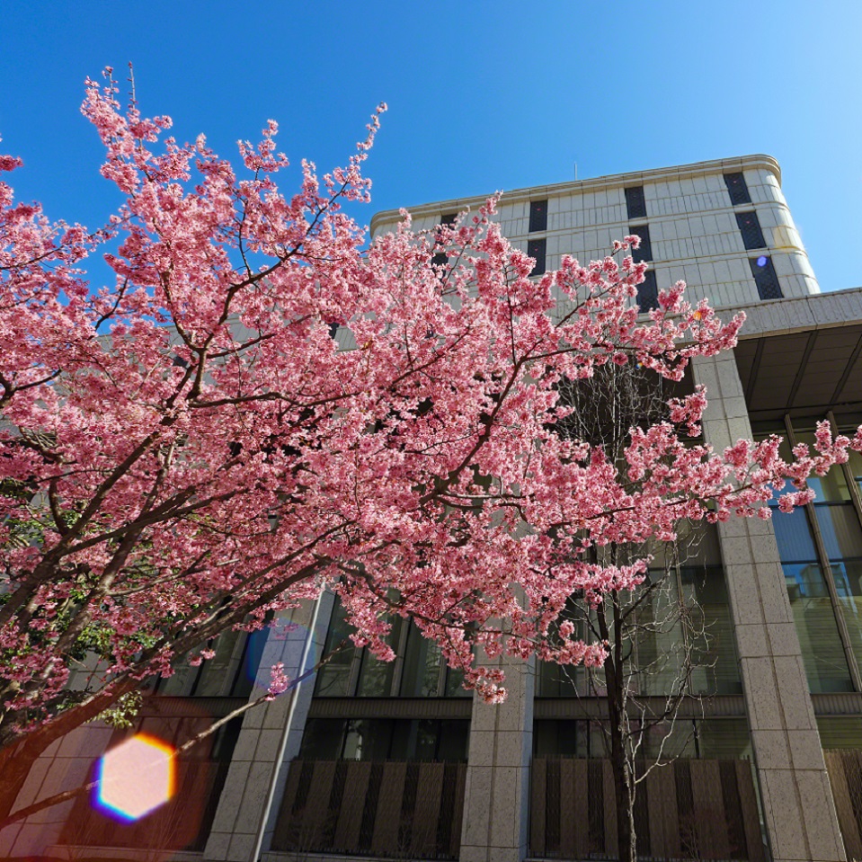
{"type": "MultiPolygon", "coordinates": [[[[315,664],[323,648],[332,600],[324,594],[280,617],[263,649],[251,699],[266,690],[273,664],[283,662],[291,679],[315,664]]],[[[287,764],[299,751],[313,691],[311,677],[244,715],[204,851],[207,862],[256,862],[262,849],[268,849],[287,764]]]]}

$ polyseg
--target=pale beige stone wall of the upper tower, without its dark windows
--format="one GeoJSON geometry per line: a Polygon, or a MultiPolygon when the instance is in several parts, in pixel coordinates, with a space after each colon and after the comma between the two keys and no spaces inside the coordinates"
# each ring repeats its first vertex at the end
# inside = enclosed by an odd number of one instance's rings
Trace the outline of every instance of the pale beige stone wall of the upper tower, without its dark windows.
{"type": "MultiPolygon", "coordinates": [[[[547,199],[547,231],[529,234],[547,238],[547,269],[562,255],[581,262],[600,259],[637,225],[650,228],[653,269],[660,288],[677,280],[689,284],[694,299],[710,298],[716,307],[759,301],[749,259],[734,213],[757,212],[773,265],[785,297],[819,293],[808,255],[781,192],[778,164],[769,156],[746,156],[658,171],[618,174],[582,182],[537,186],[503,194],[497,220],[503,234],[526,251],[529,201],[547,199]],[[742,172],[750,204],[733,207],[724,173],[742,172]],[[642,185],[647,218],[627,218],[625,189],[642,185]]],[[[447,200],[411,208],[413,227],[431,230],[443,214],[475,211],[483,198],[447,200]]],[[[376,235],[393,229],[396,212],[372,219],[376,235]]],[[[636,233],[636,230],[635,230],[636,233]]]]}

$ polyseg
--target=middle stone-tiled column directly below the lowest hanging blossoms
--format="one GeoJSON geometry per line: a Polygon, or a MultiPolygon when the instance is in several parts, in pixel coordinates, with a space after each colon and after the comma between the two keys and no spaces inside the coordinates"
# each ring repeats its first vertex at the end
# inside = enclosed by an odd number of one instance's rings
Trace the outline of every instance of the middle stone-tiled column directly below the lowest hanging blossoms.
{"type": "Polygon", "coordinates": [[[529,849],[535,659],[502,658],[509,697],[474,696],[460,862],[521,862],[529,849]]]}

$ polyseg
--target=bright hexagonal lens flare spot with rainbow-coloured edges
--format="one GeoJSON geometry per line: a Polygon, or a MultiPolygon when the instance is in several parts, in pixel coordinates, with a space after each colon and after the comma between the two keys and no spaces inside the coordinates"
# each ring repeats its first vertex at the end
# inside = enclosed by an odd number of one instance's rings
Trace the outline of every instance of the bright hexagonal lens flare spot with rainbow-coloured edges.
{"type": "Polygon", "coordinates": [[[176,760],[167,742],[137,733],[99,760],[95,801],[106,813],[131,822],[155,811],[176,790],[176,760]]]}

